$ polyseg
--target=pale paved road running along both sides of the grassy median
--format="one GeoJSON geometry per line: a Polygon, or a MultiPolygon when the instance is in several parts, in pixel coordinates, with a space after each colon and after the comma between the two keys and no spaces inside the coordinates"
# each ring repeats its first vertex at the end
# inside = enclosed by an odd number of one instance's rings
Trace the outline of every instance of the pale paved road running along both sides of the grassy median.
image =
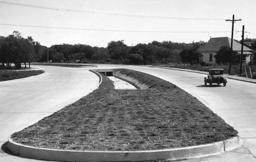
{"type": "MultiPolygon", "coordinates": [[[[0,141],[2,143],[7,140],[11,133],[21,130],[42,117],[64,107],[64,105],[79,99],[80,97],[75,98],[74,95],[77,95],[76,90],[79,91],[81,88],[78,88],[76,86],[77,83],[74,83],[80,80],[81,74],[86,74],[86,76],[88,74],[87,77],[81,80],[90,80],[89,78],[92,77],[93,83],[95,82],[92,85],[83,85],[82,82],[79,82],[79,86],[84,86],[85,89],[88,89],[87,93],[96,87],[98,81],[95,74],[87,72],[87,68],[75,69],[45,66],[42,68],[45,68],[49,73],[30,77],[31,79],[14,80],[6,83],[0,82],[0,94],[1,96],[7,96],[4,97],[4,101],[2,101],[2,98],[0,99],[0,141]],[[78,78],[74,79],[74,77],[78,78]],[[52,84],[48,85],[47,83],[49,82],[52,82],[52,84]],[[67,86],[62,84],[67,84],[67,86]],[[47,86],[51,88],[47,88],[47,86]],[[90,86],[92,89],[89,88],[90,86]],[[67,89],[64,90],[64,87],[67,89]],[[67,91],[73,92],[67,93],[67,91]],[[65,98],[67,95],[64,93],[68,94],[69,101],[65,98]],[[16,94],[20,95],[15,96],[16,94]],[[23,98],[24,96],[25,98],[23,98]]],[[[244,141],[243,146],[236,150],[199,159],[189,159],[187,162],[256,162],[256,84],[228,80],[226,87],[218,85],[209,87],[204,86],[203,79],[206,76],[204,74],[143,66],[99,65],[98,68],[130,68],[172,82],[200,99],[212,111],[238,130],[239,135],[244,141]]],[[[91,82],[89,81],[89,83],[91,82]]],[[[80,93],[83,94],[84,92],[79,91],[80,93]]],[[[3,153],[3,151],[0,153],[0,162],[10,161],[9,159],[24,162],[37,161],[9,156],[3,153]]]]}

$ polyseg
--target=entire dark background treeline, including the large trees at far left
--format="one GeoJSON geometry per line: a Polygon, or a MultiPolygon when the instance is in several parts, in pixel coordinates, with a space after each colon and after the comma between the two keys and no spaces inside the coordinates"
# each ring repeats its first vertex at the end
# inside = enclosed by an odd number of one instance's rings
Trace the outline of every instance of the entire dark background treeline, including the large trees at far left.
{"type": "Polygon", "coordinates": [[[65,63],[192,64],[200,62],[200,52],[197,49],[205,44],[203,41],[153,41],[128,46],[123,40],[119,40],[109,42],[107,48],[84,44],[60,44],[47,48],[35,42],[32,37],[23,38],[19,31],[14,31],[8,37],[0,36],[0,63],[7,67],[14,64],[16,68],[20,68],[21,63],[26,65],[31,62],[47,62],[48,58],[52,62],[65,63]]]}

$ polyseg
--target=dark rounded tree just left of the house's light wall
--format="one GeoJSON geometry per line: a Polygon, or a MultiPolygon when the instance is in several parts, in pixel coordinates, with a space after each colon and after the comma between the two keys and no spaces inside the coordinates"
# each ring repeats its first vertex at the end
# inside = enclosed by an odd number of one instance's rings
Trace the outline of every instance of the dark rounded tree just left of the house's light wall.
{"type": "Polygon", "coordinates": [[[180,52],[181,61],[183,63],[199,63],[200,62],[200,55],[201,53],[197,51],[195,48],[185,48],[180,52]]]}

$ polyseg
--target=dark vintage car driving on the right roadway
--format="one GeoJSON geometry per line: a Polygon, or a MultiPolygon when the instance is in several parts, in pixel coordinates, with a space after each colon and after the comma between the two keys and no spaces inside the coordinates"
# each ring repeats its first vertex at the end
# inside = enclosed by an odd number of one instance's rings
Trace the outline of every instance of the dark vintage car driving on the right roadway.
{"type": "Polygon", "coordinates": [[[204,85],[209,83],[212,86],[212,83],[217,83],[220,85],[223,83],[223,86],[227,84],[227,78],[223,76],[224,70],[222,68],[213,68],[209,70],[209,75],[204,77],[204,85]]]}

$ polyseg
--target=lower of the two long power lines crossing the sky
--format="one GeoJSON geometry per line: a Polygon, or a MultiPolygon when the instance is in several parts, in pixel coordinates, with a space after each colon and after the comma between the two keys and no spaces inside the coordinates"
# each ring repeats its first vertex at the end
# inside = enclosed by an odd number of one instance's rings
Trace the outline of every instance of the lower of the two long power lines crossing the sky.
{"type": "Polygon", "coordinates": [[[92,29],[92,28],[64,28],[64,27],[52,27],[52,26],[30,26],[20,24],[5,24],[0,23],[3,26],[22,26],[33,28],[55,28],[55,29],[69,29],[69,30],[87,30],[87,31],[116,31],[116,32],[137,32],[137,33],[229,33],[230,31],[132,31],[132,30],[108,30],[108,29],[92,29]]]}

